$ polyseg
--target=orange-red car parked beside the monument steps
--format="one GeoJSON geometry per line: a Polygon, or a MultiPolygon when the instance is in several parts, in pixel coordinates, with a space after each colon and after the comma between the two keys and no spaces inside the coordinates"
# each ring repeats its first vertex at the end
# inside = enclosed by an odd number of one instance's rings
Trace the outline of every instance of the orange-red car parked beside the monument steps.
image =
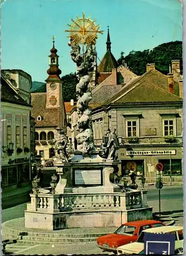
{"type": "Polygon", "coordinates": [[[97,245],[103,251],[112,251],[117,254],[119,246],[136,242],[142,230],[164,225],[161,221],[154,220],[127,222],[116,229],[114,233],[97,238],[97,245]]]}

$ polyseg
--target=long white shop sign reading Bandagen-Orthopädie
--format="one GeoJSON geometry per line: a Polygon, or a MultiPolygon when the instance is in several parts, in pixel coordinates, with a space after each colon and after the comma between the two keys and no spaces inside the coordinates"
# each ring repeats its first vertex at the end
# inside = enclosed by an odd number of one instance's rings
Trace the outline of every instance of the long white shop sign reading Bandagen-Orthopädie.
{"type": "Polygon", "coordinates": [[[138,151],[127,151],[126,155],[127,156],[176,155],[176,151],[175,150],[146,150],[146,151],[138,150],[138,151]]]}

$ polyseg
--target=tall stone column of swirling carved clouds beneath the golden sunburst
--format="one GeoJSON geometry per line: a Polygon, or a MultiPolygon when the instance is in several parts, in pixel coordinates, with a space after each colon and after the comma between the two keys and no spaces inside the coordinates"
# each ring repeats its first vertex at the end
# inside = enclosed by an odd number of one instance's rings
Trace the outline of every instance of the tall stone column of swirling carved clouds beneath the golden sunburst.
{"type": "Polygon", "coordinates": [[[77,131],[79,132],[76,136],[77,150],[89,153],[95,150],[95,146],[91,123],[92,109],[89,106],[92,95],[91,92],[88,91],[88,84],[97,53],[94,44],[88,45],[87,51],[84,54],[81,54],[81,48],[73,43],[73,39],[70,39],[68,45],[71,47],[71,58],[77,65],[76,76],[79,81],[76,84],[77,131]]]}

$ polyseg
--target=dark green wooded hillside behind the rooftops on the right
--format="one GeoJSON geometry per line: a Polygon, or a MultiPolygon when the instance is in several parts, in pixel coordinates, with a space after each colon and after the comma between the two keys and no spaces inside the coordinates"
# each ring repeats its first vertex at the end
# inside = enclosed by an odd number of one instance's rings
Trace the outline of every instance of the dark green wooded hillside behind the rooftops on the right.
{"type": "Polygon", "coordinates": [[[124,52],[118,59],[121,65],[122,60],[127,63],[127,67],[137,75],[146,72],[147,63],[155,63],[155,67],[163,74],[169,73],[169,64],[171,60],[180,60],[180,69],[182,71],[182,41],[166,42],[150,50],[131,51],[124,57],[124,52]]]}

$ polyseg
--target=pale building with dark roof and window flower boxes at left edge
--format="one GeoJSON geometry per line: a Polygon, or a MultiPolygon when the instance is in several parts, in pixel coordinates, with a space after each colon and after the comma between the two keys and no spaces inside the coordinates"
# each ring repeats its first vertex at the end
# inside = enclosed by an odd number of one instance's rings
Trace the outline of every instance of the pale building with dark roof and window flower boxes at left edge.
{"type": "Polygon", "coordinates": [[[31,84],[31,76],[22,70],[2,70],[3,191],[28,184],[31,179],[31,161],[34,151],[34,122],[30,116],[31,84]]]}

